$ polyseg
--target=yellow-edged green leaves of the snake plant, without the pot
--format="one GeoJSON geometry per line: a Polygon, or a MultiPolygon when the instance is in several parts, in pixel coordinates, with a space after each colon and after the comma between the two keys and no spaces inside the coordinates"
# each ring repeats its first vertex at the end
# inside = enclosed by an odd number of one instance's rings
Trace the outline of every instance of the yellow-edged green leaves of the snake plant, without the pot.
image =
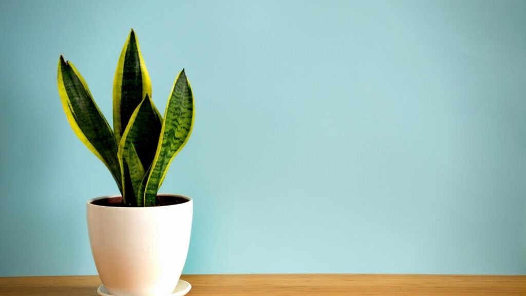
{"type": "Polygon", "coordinates": [[[151,100],[151,82],[131,29],[113,83],[113,130],[73,63],[58,61],[58,93],[75,134],[112,174],[126,206],[155,206],[168,167],[194,125],[194,97],[181,71],[164,116],[151,100]]]}

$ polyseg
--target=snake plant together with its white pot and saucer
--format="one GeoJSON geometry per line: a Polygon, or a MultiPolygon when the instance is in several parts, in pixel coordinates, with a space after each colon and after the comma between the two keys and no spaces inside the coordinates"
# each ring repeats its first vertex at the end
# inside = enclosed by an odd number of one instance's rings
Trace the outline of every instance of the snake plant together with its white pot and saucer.
{"type": "Polygon", "coordinates": [[[82,75],[62,55],[58,92],[73,131],[106,165],[120,191],[87,202],[89,240],[103,283],[99,294],[186,294],[190,285],[179,277],[193,203],[186,196],[157,194],[194,124],[194,98],[184,69],[161,116],[151,100],[150,78],[131,29],[115,72],[113,130],[82,75]]]}

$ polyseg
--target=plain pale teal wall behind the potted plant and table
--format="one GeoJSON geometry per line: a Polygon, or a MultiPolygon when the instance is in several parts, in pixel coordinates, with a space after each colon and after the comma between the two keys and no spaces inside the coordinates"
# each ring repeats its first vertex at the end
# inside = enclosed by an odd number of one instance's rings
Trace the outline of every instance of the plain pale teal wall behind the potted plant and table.
{"type": "Polygon", "coordinates": [[[194,133],[185,273],[526,274],[526,2],[0,1],[0,276],[95,274],[115,194],[70,129],[59,54],[112,122],[134,27],[194,133]],[[122,3],[126,3],[122,5],[122,3]]]}

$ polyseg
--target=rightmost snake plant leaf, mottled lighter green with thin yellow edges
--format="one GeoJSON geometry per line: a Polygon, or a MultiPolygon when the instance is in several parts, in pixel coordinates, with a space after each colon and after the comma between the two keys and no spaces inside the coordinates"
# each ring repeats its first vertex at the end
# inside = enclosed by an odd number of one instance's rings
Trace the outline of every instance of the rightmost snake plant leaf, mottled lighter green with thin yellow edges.
{"type": "Polygon", "coordinates": [[[188,141],[194,126],[194,119],[194,96],[183,69],[175,78],[166,104],[159,144],[146,182],[145,206],[155,205],[157,191],[163,184],[171,161],[188,141]]]}

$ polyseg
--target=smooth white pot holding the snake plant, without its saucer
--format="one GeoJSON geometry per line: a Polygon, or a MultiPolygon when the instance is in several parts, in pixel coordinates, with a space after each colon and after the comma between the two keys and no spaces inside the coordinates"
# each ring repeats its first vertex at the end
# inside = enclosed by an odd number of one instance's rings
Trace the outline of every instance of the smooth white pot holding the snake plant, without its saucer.
{"type": "Polygon", "coordinates": [[[128,208],[120,196],[88,201],[89,242],[106,290],[115,296],[168,295],[174,291],[188,252],[192,200],[179,204],[128,208]]]}

